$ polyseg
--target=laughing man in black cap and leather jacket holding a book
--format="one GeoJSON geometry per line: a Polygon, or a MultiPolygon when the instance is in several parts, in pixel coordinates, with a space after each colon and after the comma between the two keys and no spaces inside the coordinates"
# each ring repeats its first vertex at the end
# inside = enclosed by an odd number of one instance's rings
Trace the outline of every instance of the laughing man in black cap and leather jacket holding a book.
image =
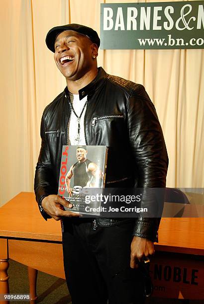
{"type": "Polygon", "coordinates": [[[154,253],[160,219],[79,217],[57,193],[65,145],[108,147],[105,187],[164,188],[168,155],[155,107],[143,85],[98,68],[94,29],[56,26],[46,44],[67,85],[42,115],[34,189],[44,219],[62,220],[72,303],[143,304],[140,266],[154,253]]]}

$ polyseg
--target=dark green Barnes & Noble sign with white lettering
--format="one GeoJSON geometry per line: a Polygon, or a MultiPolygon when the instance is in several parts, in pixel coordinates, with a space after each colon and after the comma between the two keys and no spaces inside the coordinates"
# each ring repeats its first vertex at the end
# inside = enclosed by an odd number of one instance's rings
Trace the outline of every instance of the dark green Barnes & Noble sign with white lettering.
{"type": "Polygon", "coordinates": [[[102,49],[203,49],[204,1],[101,4],[102,49]]]}

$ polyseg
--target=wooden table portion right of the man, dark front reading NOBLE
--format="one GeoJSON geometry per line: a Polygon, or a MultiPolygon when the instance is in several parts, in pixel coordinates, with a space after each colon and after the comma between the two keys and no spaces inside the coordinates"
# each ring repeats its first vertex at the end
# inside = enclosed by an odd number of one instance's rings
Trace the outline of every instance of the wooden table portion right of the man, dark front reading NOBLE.
{"type": "Polygon", "coordinates": [[[153,296],[204,299],[204,219],[163,218],[155,250],[153,296]]]}

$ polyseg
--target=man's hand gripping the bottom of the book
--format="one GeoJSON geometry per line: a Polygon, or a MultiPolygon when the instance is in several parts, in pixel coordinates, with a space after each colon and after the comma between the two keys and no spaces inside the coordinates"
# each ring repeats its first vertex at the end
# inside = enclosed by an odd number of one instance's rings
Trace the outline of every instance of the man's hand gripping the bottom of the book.
{"type": "Polygon", "coordinates": [[[48,195],[42,200],[42,208],[44,211],[56,221],[62,217],[79,217],[78,213],[63,210],[63,206],[72,208],[73,205],[61,198],[59,195],[48,195]]]}

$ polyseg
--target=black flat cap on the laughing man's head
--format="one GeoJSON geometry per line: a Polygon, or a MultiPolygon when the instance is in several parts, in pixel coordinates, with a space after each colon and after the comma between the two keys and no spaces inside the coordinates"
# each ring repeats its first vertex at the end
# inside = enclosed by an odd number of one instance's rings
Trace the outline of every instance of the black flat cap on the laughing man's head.
{"type": "Polygon", "coordinates": [[[83,34],[85,36],[88,36],[88,38],[96,43],[98,47],[100,47],[100,38],[99,35],[93,28],[81,25],[81,24],[76,24],[76,23],[71,23],[71,24],[66,24],[66,25],[61,25],[61,26],[55,26],[49,30],[47,33],[45,42],[50,51],[53,53],[55,52],[55,39],[57,35],[64,31],[75,31],[80,34],[83,34]]]}

